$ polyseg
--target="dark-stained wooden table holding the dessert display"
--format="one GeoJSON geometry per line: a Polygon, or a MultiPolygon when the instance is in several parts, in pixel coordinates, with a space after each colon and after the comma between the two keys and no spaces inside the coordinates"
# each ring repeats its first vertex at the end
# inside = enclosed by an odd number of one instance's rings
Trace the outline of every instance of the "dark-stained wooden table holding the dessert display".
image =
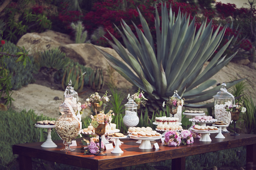
{"type": "Polygon", "coordinates": [[[57,163],[69,164],[77,167],[84,167],[92,170],[113,169],[118,167],[127,167],[137,164],[164,161],[172,159],[172,170],[185,169],[185,157],[208,153],[217,150],[230,149],[233,147],[247,146],[247,162],[256,164],[256,135],[240,134],[240,136],[230,136],[224,134],[225,139],[216,139],[216,134],[211,134],[211,142],[200,142],[195,139],[194,144],[180,145],[178,147],[167,147],[159,141],[159,149],[139,149],[140,144],[136,144],[133,139],[122,139],[124,142],[120,148],[124,153],[111,153],[111,150],[105,150],[107,156],[84,155],[81,153],[81,139],[76,139],[77,147],[74,152],[60,151],[64,148],[62,140],[54,141],[58,147],[41,147],[43,142],[15,144],[12,146],[13,154],[19,155],[20,170],[32,169],[31,158],[55,161],[57,163]]]}

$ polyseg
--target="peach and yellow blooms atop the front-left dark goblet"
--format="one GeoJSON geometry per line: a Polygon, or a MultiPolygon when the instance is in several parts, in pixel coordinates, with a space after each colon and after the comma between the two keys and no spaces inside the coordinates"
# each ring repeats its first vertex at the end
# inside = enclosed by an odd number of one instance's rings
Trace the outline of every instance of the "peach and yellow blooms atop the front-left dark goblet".
{"type": "Polygon", "coordinates": [[[109,110],[108,113],[104,113],[104,110],[100,111],[99,114],[96,115],[91,115],[91,119],[92,119],[92,126],[94,128],[98,127],[99,124],[105,124],[105,123],[110,123],[112,121],[112,116],[114,116],[115,114],[112,113],[112,110],[109,110]]]}

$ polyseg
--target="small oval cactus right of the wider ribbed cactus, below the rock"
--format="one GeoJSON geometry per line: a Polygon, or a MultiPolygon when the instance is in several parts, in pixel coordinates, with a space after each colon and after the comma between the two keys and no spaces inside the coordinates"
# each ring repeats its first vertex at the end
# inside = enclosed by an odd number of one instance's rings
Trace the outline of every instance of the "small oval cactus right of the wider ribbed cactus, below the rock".
{"type": "Polygon", "coordinates": [[[99,91],[104,86],[104,75],[102,73],[102,69],[96,68],[91,74],[90,74],[90,87],[95,90],[99,91]]]}

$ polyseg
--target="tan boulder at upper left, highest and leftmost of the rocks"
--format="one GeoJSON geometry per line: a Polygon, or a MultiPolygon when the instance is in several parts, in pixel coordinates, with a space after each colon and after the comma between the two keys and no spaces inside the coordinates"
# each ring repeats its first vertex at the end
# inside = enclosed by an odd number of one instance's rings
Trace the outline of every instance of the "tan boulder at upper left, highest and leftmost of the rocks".
{"type": "Polygon", "coordinates": [[[49,50],[59,47],[60,45],[74,43],[70,36],[59,32],[47,30],[43,33],[27,33],[17,42],[17,46],[24,46],[29,51],[29,55],[36,52],[49,50]]]}

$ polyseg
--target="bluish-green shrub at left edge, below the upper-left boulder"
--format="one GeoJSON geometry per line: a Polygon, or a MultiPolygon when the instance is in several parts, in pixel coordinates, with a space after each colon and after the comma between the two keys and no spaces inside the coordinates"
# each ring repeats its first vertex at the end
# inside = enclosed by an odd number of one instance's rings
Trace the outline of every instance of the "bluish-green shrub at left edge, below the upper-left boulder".
{"type": "MultiPolygon", "coordinates": [[[[18,48],[12,42],[6,42],[1,51],[4,51],[9,54],[17,54],[21,52],[20,48],[18,48]]],[[[23,51],[22,51],[23,52],[23,51]]],[[[28,85],[29,83],[35,82],[35,79],[32,75],[34,70],[33,63],[34,58],[29,57],[31,62],[26,62],[26,67],[24,67],[22,62],[16,62],[17,57],[14,56],[6,56],[4,58],[4,62],[6,63],[6,68],[12,74],[11,83],[12,83],[12,90],[18,90],[24,85],[28,85]]]]}

